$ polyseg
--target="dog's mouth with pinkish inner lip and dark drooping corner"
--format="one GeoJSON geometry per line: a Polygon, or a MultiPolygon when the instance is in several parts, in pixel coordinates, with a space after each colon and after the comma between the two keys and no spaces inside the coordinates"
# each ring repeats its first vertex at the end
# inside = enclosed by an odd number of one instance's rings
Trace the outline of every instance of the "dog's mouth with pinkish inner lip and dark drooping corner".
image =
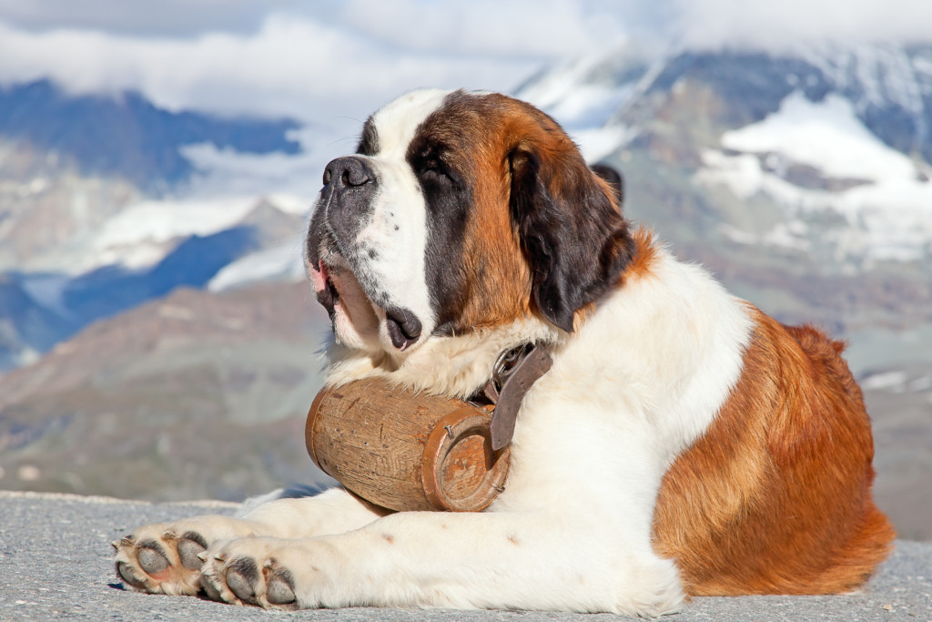
{"type": "Polygon", "coordinates": [[[391,345],[399,352],[420,339],[423,326],[414,312],[393,305],[378,306],[366,294],[345,258],[332,251],[322,255],[325,258],[311,267],[310,277],[317,301],[330,316],[337,336],[350,326],[361,334],[367,330],[377,332],[379,322],[384,320],[391,345]]]}

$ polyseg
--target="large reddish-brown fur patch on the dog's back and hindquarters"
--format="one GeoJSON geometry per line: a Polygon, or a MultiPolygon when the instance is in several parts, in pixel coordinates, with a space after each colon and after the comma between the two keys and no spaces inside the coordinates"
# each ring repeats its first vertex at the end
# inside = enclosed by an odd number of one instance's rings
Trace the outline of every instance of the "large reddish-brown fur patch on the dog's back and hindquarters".
{"type": "Polygon", "coordinates": [[[654,548],[693,596],[855,589],[895,537],[860,389],[841,342],[752,313],[740,380],[664,477],[654,548]]]}

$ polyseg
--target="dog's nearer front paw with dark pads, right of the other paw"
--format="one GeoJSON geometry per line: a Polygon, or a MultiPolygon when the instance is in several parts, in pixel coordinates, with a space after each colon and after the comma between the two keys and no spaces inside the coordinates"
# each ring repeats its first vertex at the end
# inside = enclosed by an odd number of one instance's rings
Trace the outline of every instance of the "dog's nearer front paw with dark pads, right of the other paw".
{"type": "MultiPolygon", "coordinates": [[[[204,554],[201,586],[215,601],[263,608],[298,609],[295,574],[283,560],[289,551],[278,538],[240,538],[212,547],[204,554]]],[[[320,572],[308,562],[311,573],[320,572]]]]}

